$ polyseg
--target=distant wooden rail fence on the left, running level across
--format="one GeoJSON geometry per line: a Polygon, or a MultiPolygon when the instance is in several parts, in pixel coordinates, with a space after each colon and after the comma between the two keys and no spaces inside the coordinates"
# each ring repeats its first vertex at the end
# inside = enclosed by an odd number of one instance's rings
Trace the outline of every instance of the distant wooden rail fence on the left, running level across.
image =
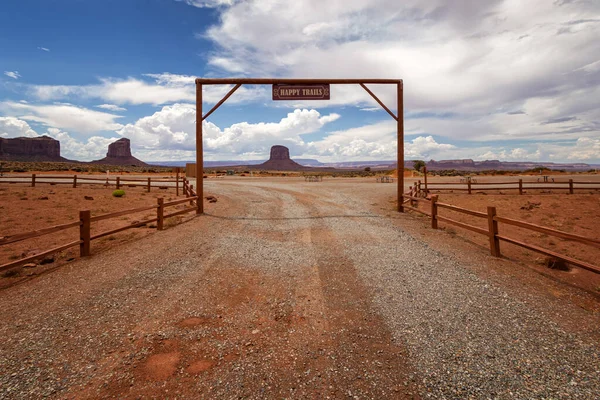
{"type": "Polygon", "coordinates": [[[179,196],[179,187],[183,183],[185,178],[179,176],[179,172],[176,173],[175,179],[157,179],[157,178],[128,178],[128,177],[106,177],[100,178],[98,176],[86,176],[86,175],[37,175],[31,174],[31,178],[23,175],[16,176],[2,176],[0,177],[0,183],[9,184],[27,184],[31,187],[36,187],[39,184],[50,184],[50,185],[72,185],[74,188],[77,185],[104,185],[114,186],[117,189],[122,187],[145,187],[149,192],[151,188],[168,189],[170,186],[166,186],[167,183],[175,184],[176,195],[179,196]]]}

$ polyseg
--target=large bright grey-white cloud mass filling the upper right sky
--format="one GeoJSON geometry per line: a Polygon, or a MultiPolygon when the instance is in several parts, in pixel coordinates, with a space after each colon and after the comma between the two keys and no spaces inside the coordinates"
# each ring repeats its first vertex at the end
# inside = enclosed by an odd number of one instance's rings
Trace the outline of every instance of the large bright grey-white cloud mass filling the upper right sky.
{"type": "MultiPolygon", "coordinates": [[[[600,135],[598,15],[592,1],[249,0],[220,9],[200,37],[226,73],[403,78],[406,111],[453,114],[421,118],[413,129],[425,136],[575,140],[600,135]],[[506,118],[515,109],[527,115],[506,118]],[[577,119],[543,125],[568,117],[577,119]]],[[[394,88],[376,89],[394,109],[394,88]]],[[[377,106],[352,86],[294,106],[348,104],[377,106]]]]}

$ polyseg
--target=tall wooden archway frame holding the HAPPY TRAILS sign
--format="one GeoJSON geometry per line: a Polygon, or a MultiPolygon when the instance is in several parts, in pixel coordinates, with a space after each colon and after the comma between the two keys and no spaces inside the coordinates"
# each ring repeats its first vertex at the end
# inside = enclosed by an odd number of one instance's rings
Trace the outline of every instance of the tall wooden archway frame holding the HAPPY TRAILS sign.
{"type": "Polygon", "coordinates": [[[208,118],[221,104],[242,85],[360,85],[373,99],[388,112],[397,122],[397,173],[398,173],[398,212],[404,212],[402,194],[404,191],[404,88],[402,79],[277,79],[277,78],[198,78],[196,79],[196,186],[198,191],[197,214],[204,213],[204,153],[202,145],[202,121],[208,118]],[[395,115],[379,98],[366,86],[368,84],[396,85],[398,97],[398,114],[395,115]],[[204,85],[235,85],[217,104],[205,115],[202,111],[202,87],[204,85]]]}

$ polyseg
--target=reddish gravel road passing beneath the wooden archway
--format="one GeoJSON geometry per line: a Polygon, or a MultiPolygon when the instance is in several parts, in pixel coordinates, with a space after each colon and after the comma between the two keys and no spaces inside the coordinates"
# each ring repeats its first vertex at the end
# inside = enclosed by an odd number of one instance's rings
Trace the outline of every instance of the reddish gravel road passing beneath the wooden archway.
{"type": "Polygon", "coordinates": [[[207,215],[0,292],[0,398],[597,398],[556,315],[598,316],[434,250],[394,190],[207,182],[207,215]]]}

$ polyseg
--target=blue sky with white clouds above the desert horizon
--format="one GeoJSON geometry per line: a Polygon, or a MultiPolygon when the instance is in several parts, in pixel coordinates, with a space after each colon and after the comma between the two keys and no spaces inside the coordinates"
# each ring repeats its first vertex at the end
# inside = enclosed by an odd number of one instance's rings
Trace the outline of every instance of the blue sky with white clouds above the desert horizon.
{"type": "MultiPolygon", "coordinates": [[[[50,135],[78,160],[128,137],[143,160],[189,160],[195,77],[402,78],[407,159],[600,163],[598,37],[591,0],[8,0],[0,136],[50,135]]],[[[396,153],[360,87],[295,104],[244,86],[205,133],[208,160],[396,153]]]]}

